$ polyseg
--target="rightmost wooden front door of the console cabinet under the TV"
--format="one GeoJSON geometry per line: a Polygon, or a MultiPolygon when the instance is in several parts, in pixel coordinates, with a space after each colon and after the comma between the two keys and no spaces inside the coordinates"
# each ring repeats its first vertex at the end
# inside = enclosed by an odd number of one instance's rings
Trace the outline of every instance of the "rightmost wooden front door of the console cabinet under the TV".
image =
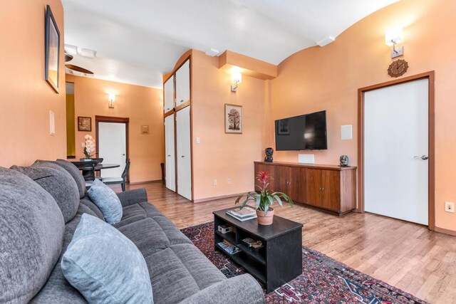
{"type": "Polygon", "coordinates": [[[338,211],[341,209],[341,174],[338,171],[321,170],[321,206],[338,211]]]}

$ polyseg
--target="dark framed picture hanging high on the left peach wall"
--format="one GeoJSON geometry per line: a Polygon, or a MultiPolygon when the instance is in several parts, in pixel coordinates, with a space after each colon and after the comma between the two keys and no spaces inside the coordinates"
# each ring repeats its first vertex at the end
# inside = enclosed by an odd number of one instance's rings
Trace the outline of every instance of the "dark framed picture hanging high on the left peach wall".
{"type": "Polygon", "coordinates": [[[58,93],[58,61],[60,56],[60,32],[51,6],[46,6],[46,34],[44,41],[44,78],[58,93]]]}

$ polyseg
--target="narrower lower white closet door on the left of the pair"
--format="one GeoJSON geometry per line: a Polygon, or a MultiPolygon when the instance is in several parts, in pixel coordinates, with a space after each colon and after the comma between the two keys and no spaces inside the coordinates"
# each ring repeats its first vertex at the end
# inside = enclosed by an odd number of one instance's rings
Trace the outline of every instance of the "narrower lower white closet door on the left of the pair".
{"type": "Polygon", "coordinates": [[[165,117],[166,187],[176,191],[174,115],[165,117]]]}

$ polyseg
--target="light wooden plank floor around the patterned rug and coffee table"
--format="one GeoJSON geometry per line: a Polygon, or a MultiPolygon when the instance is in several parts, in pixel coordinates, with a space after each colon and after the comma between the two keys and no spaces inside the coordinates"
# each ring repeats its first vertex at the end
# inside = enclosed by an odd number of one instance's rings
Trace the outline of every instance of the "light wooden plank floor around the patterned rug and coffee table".
{"type": "MultiPolygon", "coordinates": [[[[232,198],[192,204],[160,182],[128,189],[141,187],[147,189],[149,201],[179,228],[212,221],[212,211],[234,204],[232,198]]],[[[455,236],[375,214],[338,217],[304,206],[275,210],[279,216],[304,224],[304,246],[430,303],[456,303],[455,236]]]]}

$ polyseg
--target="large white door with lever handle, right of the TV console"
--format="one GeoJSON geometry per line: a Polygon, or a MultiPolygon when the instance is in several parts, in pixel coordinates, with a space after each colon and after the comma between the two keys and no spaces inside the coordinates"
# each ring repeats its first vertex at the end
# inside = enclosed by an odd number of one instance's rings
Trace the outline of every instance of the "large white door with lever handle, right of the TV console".
{"type": "Polygon", "coordinates": [[[365,210],[428,225],[428,80],[364,95],[365,210]]]}

